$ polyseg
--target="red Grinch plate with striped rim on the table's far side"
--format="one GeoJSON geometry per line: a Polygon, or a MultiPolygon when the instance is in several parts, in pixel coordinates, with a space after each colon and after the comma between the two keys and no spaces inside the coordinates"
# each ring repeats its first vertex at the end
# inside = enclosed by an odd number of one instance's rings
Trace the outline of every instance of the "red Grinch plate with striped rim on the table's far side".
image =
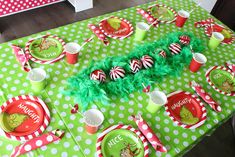
{"type": "Polygon", "coordinates": [[[133,33],[133,26],[129,21],[115,16],[100,21],[99,27],[106,36],[114,39],[124,39],[133,33]]]}

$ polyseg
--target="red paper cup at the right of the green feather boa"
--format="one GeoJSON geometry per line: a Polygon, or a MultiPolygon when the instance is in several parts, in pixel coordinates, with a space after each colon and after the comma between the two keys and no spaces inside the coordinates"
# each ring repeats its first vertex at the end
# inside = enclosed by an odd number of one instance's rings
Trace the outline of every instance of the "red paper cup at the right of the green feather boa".
{"type": "Polygon", "coordinates": [[[200,67],[207,62],[206,56],[201,53],[194,53],[192,61],[189,65],[191,72],[197,72],[200,67]]]}

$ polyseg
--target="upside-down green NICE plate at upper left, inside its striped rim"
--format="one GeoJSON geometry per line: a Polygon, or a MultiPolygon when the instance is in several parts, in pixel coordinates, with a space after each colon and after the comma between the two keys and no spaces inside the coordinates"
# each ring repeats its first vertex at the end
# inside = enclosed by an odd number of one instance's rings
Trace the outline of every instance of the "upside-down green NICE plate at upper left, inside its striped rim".
{"type": "Polygon", "coordinates": [[[40,60],[52,60],[63,52],[62,43],[52,37],[39,38],[29,45],[30,54],[40,60]]]}

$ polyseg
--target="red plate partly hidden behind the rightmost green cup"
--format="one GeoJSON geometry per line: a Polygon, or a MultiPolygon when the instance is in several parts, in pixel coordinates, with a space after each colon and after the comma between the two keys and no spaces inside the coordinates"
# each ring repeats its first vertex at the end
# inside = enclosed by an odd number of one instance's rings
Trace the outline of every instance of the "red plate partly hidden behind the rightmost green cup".
{"type": "MultiPolygon", "coordinates": [[[[233,41],[235,40],[233,32],[230,31],[229,29],[226,29],[218,24],[214,24],[212,27],[214,32],[220,32],[224,35],[224,40],[222,41],[223,44],[232,44],[233,41]]],[[[211,37],[211,32],[212,32],[211,26],[206,26],[205,34],[211,37]]]]}

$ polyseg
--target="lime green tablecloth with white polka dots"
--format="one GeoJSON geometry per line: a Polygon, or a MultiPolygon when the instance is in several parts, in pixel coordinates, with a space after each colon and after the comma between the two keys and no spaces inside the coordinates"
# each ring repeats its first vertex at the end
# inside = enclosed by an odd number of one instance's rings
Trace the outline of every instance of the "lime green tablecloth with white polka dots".
{"type": "MultiPolygon", "coordinates": [[[[175,10],[185,9],[191,10],[195,4],[191,1],[185,0],[159,0],[160,4],[166,4],[175,10]]],[[[156,2],[151,2],[138,7],[147,8],[156,2]]],[[[92,35],[88,29],[89,23],[98,24],[104,17],[116,15],[131,21],[133,25],[137,21],[145,21],[141,15],[136,13],[136,8],[129,8],[115,13],[110,13],[104,16],[95,17],[85,21],[73,23],[53,30],[42,32],[17,39],[8,43],[0,45],[0,104],[3,104],[7,99],[22,94],[31,94],[29,80],[26,79],[27,73],[21,70],[19,63],[16,61],[11,44],[18,44],[25,46],[26,42],[38,35],[46,33],[57,34],[66,42],[82,43],[85,39],[92,35]]],[[[174,31],[186,31],[194,33],[198,38],[208,43],[208,38],[204,34],[204,30],[194,27],[194,22],[202,19],[207,19],[210,15],[203,9],[195,9],[190,15],[183,28],[178,28],[174,24],[162,24],[158,28],[153,28],[147,34],[145,42],[160,39],[164,34],[174,31]]],[[[218,20],[216,20],[218,23],[218,20]]],[[[62,157],[93,157],[96,155],[96,139],[102,129],[118,124],[131,124],[137,128],[136,124],[131,121],[132,114],[143,114],[143,118],[152,127],[156,135],[160,138],[162,143],[168,149],[167,153],[155,152],[151,146],[150,156],[182,156],[186,151],[198,143],[204,136],[211,134],[220,124],[230,118],[235,112],[235,98],[222,95],[212,89],[206,82],[205,72],[213,65],[223,65],[225,61],[235,62],[235,45],[220,45],[214,51],[206,48],[204,54],[208,58],[207,64],[197,73],[191,73],[188,67],[185,67],[181,76],[166,77],[161,84],[154,88],[160,88],[166,93],[175,90],[186,90],[193,92],[189,87],[189,82],[195,80],[200,83],[208,92],[221,104],[222,112],[216,113],[206,105],[208,118],[204,125],[197,129],[189,130],[183,129],[173,123],[173,121],[166,115],[164,108],[161,108],[157,114],[150,114],[146,111],[145,106],[148,102],[148,97],[144,93],[132,93],[129,95],[129,101],[120,97],[112,97],[109,106],[102,106],[102,104],[91,104],[91,108],[99,108],[105,116],[105,121],[95,135],[88,135],[84,129],[83,119],[80,114],[70,113],[70,104],[74,105],[74,100],[71,97],[65,97],[60,94],[66,83],[66,79],[73,74],[78,73],[81,69],[86,68],[93,60],[100,60],[107,56],[125,55],[130,52],[137,44],[134,36],[124,39],[115,40],[110,39],[110,45],[105,47],[97,38],[90,42],[86,48],[82,50],[79,56],[79,62],[76,65],[68,65],[63,59],[59,62],[50,65],[40,65],[31,63],[33,67],[44,68],[47,75],[47,87],[44,92],[37,95],[43,99],[48,105],[51,112],[51,122],[45,132],[62,129],[66,132],[61,141],[54,142],[50,145],[43,146],[40,149],[29,153],[30,156],[47,157],[47,156],[62,156],[62,157]]],[[[10,156],[13,149],[19,145],[20,142],[12,141],[5,137],[0,137],[0,156],[10,156]]],[[[25,155],[27,156],[27,155],[25,155]]]]}

